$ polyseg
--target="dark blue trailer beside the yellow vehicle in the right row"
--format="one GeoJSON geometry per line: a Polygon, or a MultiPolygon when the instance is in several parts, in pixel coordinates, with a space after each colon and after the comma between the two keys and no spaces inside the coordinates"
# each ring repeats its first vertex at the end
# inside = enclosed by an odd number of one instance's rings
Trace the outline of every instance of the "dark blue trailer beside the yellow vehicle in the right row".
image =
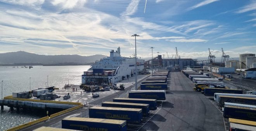
{"type": "Polygon", "coordinates": [[[204,88],[205,96],[214,96],[214,93],[230,93],[230,94],[243,94],[240,89],[223,89],[223,88],[204,88]]]}

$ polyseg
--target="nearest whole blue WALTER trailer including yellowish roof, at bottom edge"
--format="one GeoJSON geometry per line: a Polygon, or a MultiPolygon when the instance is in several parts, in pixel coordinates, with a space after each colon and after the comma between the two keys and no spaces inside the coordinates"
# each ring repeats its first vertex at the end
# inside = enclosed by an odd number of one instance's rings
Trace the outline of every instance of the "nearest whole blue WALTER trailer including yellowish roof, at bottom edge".
{"type": "Polygon", "coordinates": [[[82,131],[126,131],[126,121],[99,118],[64,118],[62,128],[82,131]]]}

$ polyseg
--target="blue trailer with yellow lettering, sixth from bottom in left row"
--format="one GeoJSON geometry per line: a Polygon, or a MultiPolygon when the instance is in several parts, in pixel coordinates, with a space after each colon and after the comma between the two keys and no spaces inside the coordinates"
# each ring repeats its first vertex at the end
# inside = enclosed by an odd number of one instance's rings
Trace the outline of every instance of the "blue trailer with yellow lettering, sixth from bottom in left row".
{"type": "Polygon", "coordinates": [[[167,84],[140,84],[141,90],[168,90],[167,84]]]}

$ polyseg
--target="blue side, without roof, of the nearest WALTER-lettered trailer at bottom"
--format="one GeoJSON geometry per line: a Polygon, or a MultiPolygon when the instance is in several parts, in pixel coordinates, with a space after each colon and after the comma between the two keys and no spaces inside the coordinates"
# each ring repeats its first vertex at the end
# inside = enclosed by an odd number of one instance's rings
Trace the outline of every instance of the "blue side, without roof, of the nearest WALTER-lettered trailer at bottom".
{"type": "Polygon", "coordinates": [[[126,131],[126,122],[123,124],[110,124],[90,121],[74,121],[62,119],[62,128],[81,131],[126,131]]]}

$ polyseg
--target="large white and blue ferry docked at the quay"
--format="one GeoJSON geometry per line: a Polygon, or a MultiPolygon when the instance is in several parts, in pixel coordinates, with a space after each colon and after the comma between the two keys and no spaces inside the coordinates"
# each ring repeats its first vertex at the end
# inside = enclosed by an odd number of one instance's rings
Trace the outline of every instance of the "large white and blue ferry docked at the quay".
{"type": "MultiPolygon", "coordinates": [[[[82,75],[82,84],[115,83],[135,76],[135,57],[121,57],[120,47],[111,50],[110,56],[102,58],[82,75]]],[[[144,60],[137,59],[137,72],[144,69],[144,60]]]]}

